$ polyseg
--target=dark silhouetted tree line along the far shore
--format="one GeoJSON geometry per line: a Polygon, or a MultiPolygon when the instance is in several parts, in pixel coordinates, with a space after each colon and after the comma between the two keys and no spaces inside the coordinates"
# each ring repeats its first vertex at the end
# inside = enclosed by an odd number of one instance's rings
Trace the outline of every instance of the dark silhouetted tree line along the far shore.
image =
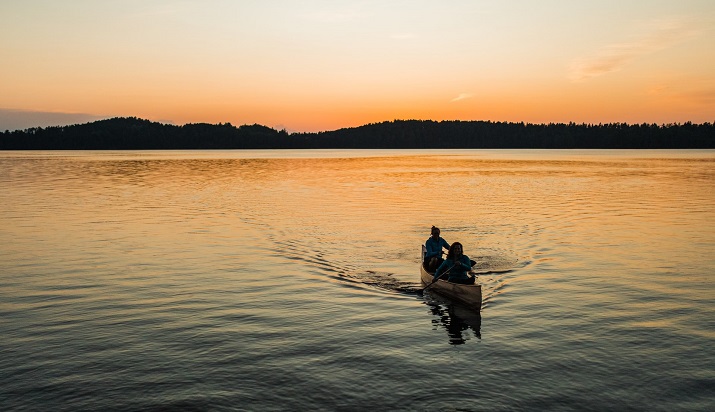
{"type": "Polygon", "coordinates": [[[317,133],[258,124],[162,124],[117,117],[0,133],[0,150],[706,149],[715,123],[576,124],[395,120],[317,133]]]}

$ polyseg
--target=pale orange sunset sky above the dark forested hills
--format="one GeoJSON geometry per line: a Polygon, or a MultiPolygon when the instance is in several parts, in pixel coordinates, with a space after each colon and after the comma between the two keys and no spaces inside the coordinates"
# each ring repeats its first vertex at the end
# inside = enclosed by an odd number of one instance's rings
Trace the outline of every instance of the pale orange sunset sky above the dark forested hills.
{"type": "Polygon", "coordinates": [[[0,131],[715,122],[712,0],[2,0],[0,131]]]}

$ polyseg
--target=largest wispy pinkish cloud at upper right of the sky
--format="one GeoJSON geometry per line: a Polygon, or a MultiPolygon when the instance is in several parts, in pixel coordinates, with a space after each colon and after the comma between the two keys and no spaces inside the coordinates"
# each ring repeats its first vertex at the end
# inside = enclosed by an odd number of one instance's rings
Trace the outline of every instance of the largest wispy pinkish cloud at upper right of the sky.
{"type": "Polygon", "coordinates": [[[573,62],[569,77],[578,82],[619,71],[641,56],[667,49],[696,34],[697,30],[684,20],[658,22],[638,39],[605,46],[595,56],[573,62]]]}

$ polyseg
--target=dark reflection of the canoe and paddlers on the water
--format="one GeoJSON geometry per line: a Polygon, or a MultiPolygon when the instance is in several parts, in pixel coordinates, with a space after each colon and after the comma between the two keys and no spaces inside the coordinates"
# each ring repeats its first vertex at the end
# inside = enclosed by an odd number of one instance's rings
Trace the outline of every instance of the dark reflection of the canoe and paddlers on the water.
{"type": "Polygon", "coordinates": [[[456,303],[440,305],[434,302],[427,303],[433,315],[437,319],[432,319],[435,328],[443,327],[449,335],[450,345],[463,345],[469,339],[470,329],[477,339],[482,338],[481,326],[482,316],[469,308],[465,308],[456,303]]]}

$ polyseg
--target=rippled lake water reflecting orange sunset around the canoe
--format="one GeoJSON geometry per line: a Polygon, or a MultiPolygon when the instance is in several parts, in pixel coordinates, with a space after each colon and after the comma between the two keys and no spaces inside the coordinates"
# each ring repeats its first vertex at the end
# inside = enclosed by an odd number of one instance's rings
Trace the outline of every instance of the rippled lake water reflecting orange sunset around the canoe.
{"type": "Polygon", "coordinates": [[[0,170],[0,410],[715,410],[715,151],[0,170]],[[432,225],[480,311],[419,293],[432,225]]]}

